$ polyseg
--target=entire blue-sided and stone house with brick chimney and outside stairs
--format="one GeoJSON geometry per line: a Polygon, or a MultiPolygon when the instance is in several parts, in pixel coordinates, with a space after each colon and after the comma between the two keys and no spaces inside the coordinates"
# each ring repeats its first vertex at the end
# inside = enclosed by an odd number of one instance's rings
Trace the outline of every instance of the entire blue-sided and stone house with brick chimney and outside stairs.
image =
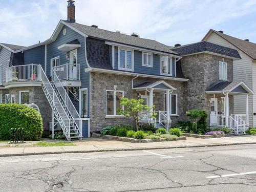
{"type": "Polygon", "coordinates": [[[206,110],[211,126],[245,129],[247,112],[229,115],[233,95],[253,94],[244,82],[233,82],[233,60],[240,59],[236,49],[206,41],[170,47],[77,24],[74,12],[70,0],[68,20],[60,20],[44,42],[0,44],[0,99],[36,104],[45,134],[55,124],[50,122],[58,122],[68,140],[90,137],[106,125],[133,123],[118,114],[123,96],[155,105],[156,121],[144,112],[141,122],[166,129],[191,109],[206,110]]]}

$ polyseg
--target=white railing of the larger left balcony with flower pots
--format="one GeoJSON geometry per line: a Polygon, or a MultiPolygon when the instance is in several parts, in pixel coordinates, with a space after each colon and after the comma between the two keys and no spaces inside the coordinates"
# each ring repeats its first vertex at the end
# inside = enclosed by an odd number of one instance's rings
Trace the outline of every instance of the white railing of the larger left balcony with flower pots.
{"type": "Polygon", "coordinates": [[[41,80],[41,66],[36,64],[11,66],[6,69],[6,82],[41,80]]]}

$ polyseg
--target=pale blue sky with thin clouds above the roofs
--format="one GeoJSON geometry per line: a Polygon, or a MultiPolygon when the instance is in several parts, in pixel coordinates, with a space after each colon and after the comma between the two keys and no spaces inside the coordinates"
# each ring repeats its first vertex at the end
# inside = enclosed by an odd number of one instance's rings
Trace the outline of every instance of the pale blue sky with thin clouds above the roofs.
{"type": "MultiPolygon", "coordinates": [[[[48,39],[66,0],[0,0],[0,42],[29,46],[48,39]]],[[[209,29],[256,42],[256,1],[77,0],[76,22],[173,46],[200,41],[209,29]]]]}

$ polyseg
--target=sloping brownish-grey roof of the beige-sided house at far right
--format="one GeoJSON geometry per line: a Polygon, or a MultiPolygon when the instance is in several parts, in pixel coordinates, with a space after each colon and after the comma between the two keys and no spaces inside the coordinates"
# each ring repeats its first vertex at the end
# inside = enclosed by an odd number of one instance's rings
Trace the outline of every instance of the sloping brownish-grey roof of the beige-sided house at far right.
{"type": "MultiPolygon", "coordinates": [[[[243,52],[245,52],[247,55],[249,55],[251,58],[256,59],[256,44],[253,42],[249,42],[246,40],[242,40],[236,37],[229,36],[227,34],[221,33],[219,31],[210,29],[209,32],[215,32],[227,41],[229,41],[231,44],[233,44],[235,47],[241,49],[243,52]]],[[[209,32],[207,34],[209,34],[209,32]]],[[[207,35],[206,35],[207,36],[207,35]]],[[[205,36],[205,37],[206,37],[205,36]]],[[[204,39],[205,39],[204,37],[204,39]]]]}

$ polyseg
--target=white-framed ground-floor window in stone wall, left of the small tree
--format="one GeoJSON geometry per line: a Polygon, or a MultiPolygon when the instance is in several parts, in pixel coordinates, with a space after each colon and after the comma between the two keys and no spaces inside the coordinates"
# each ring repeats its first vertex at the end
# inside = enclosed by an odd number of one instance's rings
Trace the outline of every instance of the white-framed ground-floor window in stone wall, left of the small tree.
{"type": "Polygon", "coordinates": [[[121,97],[123,91],[106,90],[106,116],[119,116],[118,109],[123,109],[121,97]]]}

